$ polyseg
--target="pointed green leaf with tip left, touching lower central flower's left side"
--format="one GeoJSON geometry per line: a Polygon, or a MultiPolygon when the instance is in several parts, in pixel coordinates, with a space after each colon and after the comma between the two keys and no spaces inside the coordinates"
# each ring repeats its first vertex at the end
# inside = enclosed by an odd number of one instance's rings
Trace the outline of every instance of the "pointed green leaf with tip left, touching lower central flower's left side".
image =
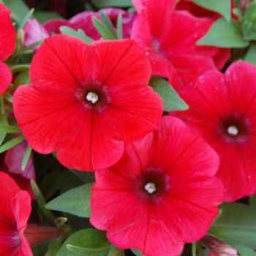
{"type": "Polygon", "coordinates": [[[79,217],[91,217],[91,186],[89,183],[75,189],[70,189],[45,205],[45,208],[64,211],[79,217]]]}

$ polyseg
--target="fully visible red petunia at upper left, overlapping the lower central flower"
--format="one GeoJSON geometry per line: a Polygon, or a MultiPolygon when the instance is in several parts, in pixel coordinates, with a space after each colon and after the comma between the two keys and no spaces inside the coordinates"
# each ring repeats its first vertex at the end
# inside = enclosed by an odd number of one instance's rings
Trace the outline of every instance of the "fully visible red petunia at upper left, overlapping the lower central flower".
{"type": "Polygon", "coordinates": [[[67,167],[93,170],[121,158],[124,142],[157,129],[162,100],[151,68],[131,39],[86,44],[66,35],[45,39],[31,63],[33,86],[19,86],[13,108],[29,145],[57,151],[67,167]]]}

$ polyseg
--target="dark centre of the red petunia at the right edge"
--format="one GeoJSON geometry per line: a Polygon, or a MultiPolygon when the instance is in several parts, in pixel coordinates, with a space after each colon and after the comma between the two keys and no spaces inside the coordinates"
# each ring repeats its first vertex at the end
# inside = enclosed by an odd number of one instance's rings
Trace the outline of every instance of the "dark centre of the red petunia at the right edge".
{"type": "Polygon", "coordinates": [[[227,142],[245,142],[250,133],[250,121],[240,113],[226,116],[219,122],[218,132],[227,142]]]}

